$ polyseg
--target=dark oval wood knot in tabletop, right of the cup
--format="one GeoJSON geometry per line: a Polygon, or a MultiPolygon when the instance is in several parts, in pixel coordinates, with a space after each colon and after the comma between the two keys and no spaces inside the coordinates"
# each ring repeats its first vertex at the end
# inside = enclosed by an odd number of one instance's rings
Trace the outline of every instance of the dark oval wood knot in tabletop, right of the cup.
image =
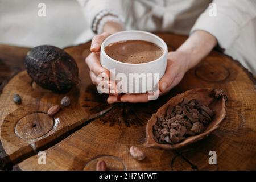
{"type": "Polygon", "coordinates": [[[195,69],[195,75],[204,81],[220,82],[228,79],[230,72],[220,64],[204,63],[195,69]]]}

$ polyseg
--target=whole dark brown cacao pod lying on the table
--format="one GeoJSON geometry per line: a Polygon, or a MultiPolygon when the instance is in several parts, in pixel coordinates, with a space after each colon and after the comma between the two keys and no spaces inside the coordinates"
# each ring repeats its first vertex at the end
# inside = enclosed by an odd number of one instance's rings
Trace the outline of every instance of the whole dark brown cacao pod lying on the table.
{"type": "Polygon", "coordinates": [[[55,46],[37,46],[27,53],[28,75],[45,89],[67,92],[80,82],[79,70],[73,57],[55,46]]]}

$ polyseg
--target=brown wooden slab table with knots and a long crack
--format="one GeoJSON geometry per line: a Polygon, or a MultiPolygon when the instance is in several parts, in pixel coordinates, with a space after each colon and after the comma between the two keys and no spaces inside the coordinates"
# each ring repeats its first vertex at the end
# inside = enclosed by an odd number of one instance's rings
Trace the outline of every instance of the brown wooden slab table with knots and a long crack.
{"type": "MultiPolygon", "coordinates": [[[[158,34],[175,50],[185,36],[158,34]]],[[[67,95],[71,106],[54,118],[46,112],[64,94],[39,86],[24,70],[30,48],[0,45],[0,158],[4,169],[88,170],[104,159],[110,169],[127,170],[245,170],[256,169],[256,81],[240,63],[212,51],[166,96],[147,104],[107,104],[90,82],[85,57],[90,43],[65,48],[79,65],[82,82],[67,95]],[[143,146],[145,126],[152,113],[167,100],[188,89],[209,87],[228,94],[226,118],[208,137],[179,150],[143,146]],[[14,93],[23,101],[15,105],[14,93]],[[138,162],[129,154],[140,147],[146,159],[138,162]],[[38,163],[39,151],[46,165],[38,163]],[[209,151],[216,151],[217,165],[210,165],[209,151]],[[42,154],[42,153],[40,153],[42,154]]]]}

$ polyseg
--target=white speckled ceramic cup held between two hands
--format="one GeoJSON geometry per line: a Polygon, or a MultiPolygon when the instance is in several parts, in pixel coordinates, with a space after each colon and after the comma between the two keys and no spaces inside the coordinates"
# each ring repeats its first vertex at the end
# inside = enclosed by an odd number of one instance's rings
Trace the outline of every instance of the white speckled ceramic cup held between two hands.
{"type": "Polygon", "coordinates": [[[110,35],[101,44],[100,60],[102,67],[110,71],[111,79],[113,80],[114,78],[116,83],[119,80],[123,81],[123,77],[126,76],[127,82],[126,84],[123,82],[122,86],[118,87],[119,93],[146,93],[154,90],[158,86],[160,78],[164,75],[167,65],[167,54],[167,45],[159,36],[145,31],[121,31],[110,35]],[[163,49],[163,55],[147,63],[131,64],[114,60],[104,51],[104,48],[109,44],[125,40],[145,40],[152,42],[163,49]],[[141,76],[141,78],[136,80],[133,77],[134,75],[141,76]],[[146,80],[144,80],[144,75],[146,76],[146,80]],[[150,78],[150,76],[152,77],[150,78]]]}

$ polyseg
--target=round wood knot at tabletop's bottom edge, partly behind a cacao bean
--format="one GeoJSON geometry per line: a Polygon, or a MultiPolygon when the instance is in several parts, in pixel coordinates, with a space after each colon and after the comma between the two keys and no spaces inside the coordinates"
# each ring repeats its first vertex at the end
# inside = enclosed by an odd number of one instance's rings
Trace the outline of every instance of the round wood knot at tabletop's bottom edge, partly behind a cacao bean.
{"type": "Polygon", "coordinates": [[[109,171],[126,171],[126,166],[121,158],[113,155],[98,155],[85,164],[84,171],[95,171],[99,160],[104,160],[109,171]]]}

